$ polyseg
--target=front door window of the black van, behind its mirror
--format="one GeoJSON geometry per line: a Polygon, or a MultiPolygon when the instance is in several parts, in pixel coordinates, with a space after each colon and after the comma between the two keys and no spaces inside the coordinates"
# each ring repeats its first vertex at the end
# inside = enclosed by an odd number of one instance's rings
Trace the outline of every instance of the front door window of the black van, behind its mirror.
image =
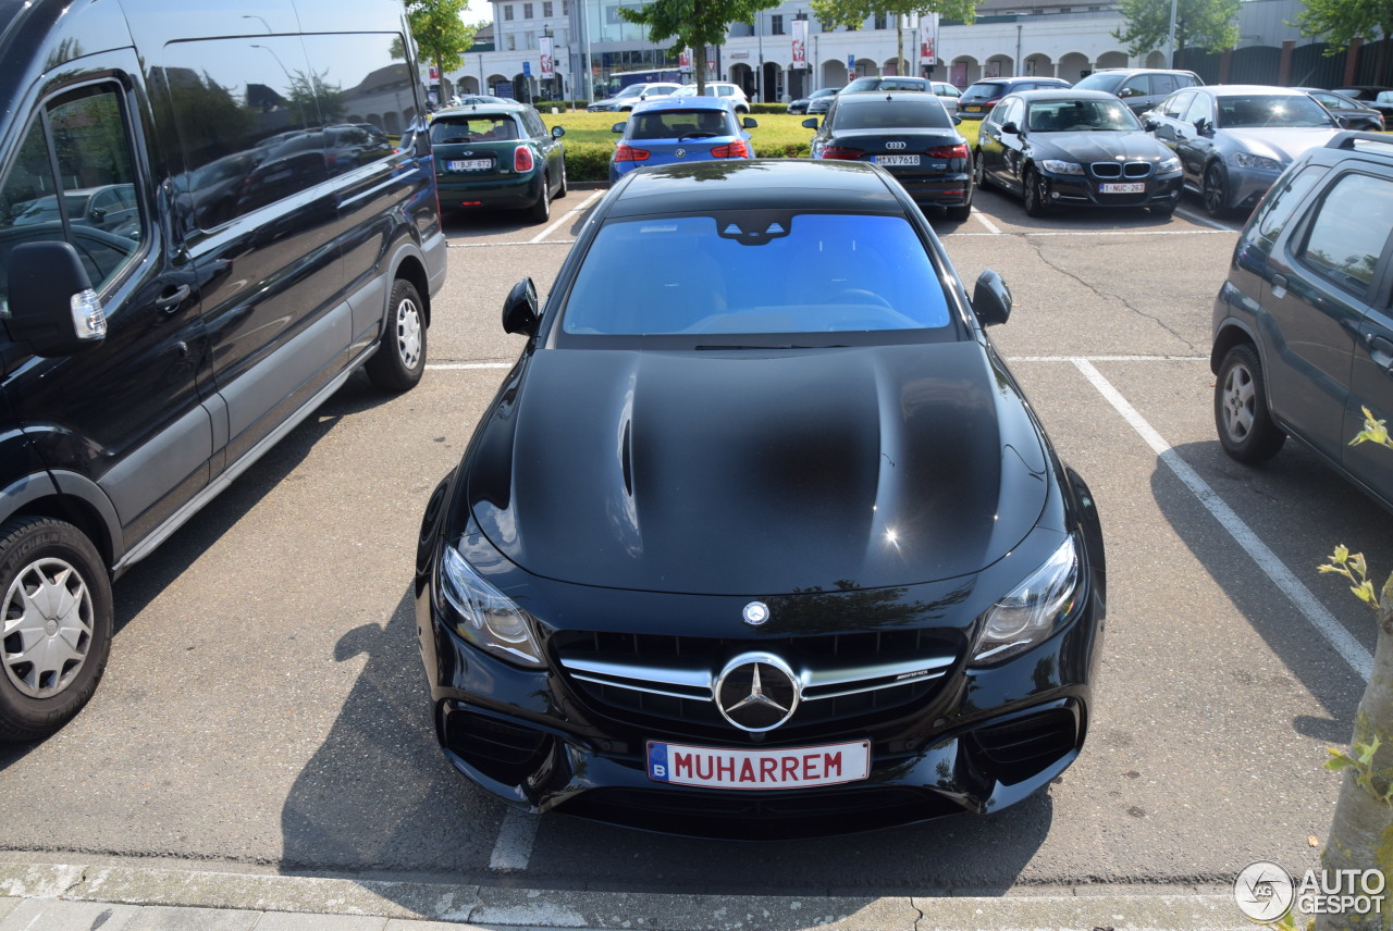
{"type": "Polygon", "coordinates": [[[35,117],[0,182],[0,316],[8,313],[10,250],[22,242],[71,242],[98,291],[131,263],[148,228],[131,153],[116,85],[64,95],[35,117]]]}

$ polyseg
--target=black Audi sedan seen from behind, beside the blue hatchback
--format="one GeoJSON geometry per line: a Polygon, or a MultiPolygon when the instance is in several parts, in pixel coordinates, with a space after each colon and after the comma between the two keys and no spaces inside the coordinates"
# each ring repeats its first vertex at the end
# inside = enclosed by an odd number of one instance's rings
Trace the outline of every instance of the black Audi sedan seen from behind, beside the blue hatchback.
{"type": "Polygon", "coordinates": [[[904,185],[915,203],[943,207],[951,220],[972,212],[972,156],[943,102],[932,93],[843,90],[816,129],[812,157],[872,161],[904,185]]]}

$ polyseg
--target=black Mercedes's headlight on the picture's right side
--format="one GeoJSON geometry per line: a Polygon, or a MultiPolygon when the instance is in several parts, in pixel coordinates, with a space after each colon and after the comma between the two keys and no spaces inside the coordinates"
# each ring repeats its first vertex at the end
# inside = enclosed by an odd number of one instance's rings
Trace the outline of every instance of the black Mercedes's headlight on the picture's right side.
{"type": "Polygon", "coordinates": [[[1039,569],[982,615],[972,665],[1000,662],[1048,637],[1073,612],[1078,583],[1078,550],[1070,536],[1039,569]]]}

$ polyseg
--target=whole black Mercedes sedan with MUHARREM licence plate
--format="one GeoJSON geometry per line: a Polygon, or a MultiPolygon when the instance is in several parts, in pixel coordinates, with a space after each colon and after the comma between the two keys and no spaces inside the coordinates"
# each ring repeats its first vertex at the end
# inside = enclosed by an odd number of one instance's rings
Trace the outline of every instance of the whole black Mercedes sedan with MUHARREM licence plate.
{"type": "Polygon", "coordinates": [[[869,163],[624,175],[421,529],[436,733],[500,799],[742,839],[989,813],[1078,756],[1094,498],[869,163]],[[784,271],[787,270],[787,271],[784,271]]]}

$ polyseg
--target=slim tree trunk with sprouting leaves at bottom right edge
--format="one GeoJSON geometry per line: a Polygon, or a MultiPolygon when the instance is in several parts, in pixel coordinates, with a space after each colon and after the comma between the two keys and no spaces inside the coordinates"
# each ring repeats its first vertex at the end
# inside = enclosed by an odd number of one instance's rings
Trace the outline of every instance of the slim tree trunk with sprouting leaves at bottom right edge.
{"type": "MultiPolygon", "coordinates": [[[[1346,0],[1348,1],[1348,0],[1346,0]]],[[[1387,424],[1375,420],[1364,409],[1364,430],[1350,445],[1376,443],[1393,449],[1387,424]]],[[[1321,857],[1328,873],[1336,870],[1380,870],[1385,881],[1393,873],[1393,575],[1382,591],[1368,578],[1368,564],[1362,552],[1350,554],[1344,546],[1336,547],[1321,572],[1330,572],[1350,583],[1350,591],[1373,608],[1378,618],[1378,642],[1373,647],[1373,669],[1360,699],[1354,719],[1354,739],[1348,751],[1330,750],[1326,767],[1343,770],[1344,782],[1330,821],[1330,839],[1321,857]]],[[[1385,899],[1386,902],[1386,899],[1385,899]]],[[[1373,914],[1367,920],[1357,916],[1319,916],[1316,928],[1383,928],[1386,916],[1373,914]]]]}

